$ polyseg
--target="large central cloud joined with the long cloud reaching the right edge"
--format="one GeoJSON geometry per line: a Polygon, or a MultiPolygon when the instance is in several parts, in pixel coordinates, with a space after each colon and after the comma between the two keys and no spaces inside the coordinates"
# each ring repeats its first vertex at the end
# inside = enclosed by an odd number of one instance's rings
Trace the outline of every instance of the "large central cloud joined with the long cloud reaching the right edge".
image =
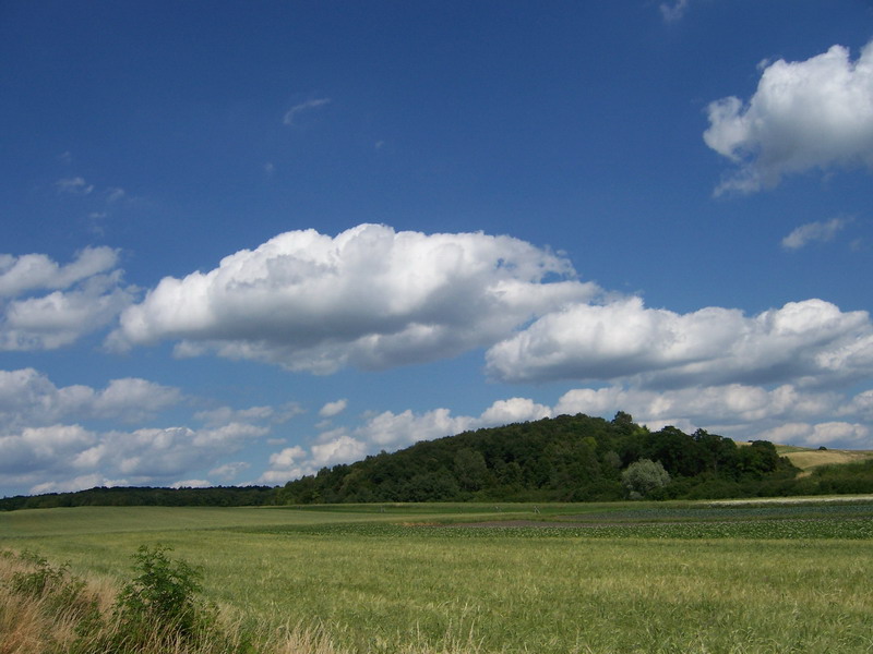
{"type": "Polygon", "coordinates": [[[576,279],[571,263],[510,237],[361,225],[279,234],[207,272],[167,277],[127,306],[109,341],[175,340],[291,371],[383,370],[487,348],[504,383],[641,388],[846,385],[873,375],[873,324],[823,300],[746,316],[646,307],[576,279]]]}

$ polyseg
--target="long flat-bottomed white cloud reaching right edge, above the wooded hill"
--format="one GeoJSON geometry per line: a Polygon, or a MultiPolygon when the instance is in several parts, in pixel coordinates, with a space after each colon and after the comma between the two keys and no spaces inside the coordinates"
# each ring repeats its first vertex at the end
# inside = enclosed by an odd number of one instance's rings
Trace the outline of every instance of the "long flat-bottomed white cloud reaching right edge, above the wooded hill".
{"type": "Polygon", "coordinates": [[[873,373],[873,325],[866,312],[844,313],[822,300],[746,317],[719,307],[677,314],[631,298],[543,316],[493,346],[487,365],[504,382],[814,386],[873,373]]]}

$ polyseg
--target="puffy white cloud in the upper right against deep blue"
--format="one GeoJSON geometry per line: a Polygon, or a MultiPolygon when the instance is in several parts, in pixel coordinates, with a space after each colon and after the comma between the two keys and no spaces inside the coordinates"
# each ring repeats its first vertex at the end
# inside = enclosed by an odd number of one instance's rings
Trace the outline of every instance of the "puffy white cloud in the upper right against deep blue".
{"type": "Polygon", "coordinates": [[[709,105],[706,144],[738,169],[717,193],[772,187],[786,174],[873,168],[873,41],[858,60],[842,46],[764,69],[748,102],[709,105]]]}

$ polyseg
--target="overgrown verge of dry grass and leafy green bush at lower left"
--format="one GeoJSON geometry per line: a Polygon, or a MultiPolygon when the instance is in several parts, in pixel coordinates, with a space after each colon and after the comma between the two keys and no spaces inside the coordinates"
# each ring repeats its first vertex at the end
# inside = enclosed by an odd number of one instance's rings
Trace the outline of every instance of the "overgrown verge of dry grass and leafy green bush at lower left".
{"type": "MultiPolygon", "coordinates": [[[[200,571],[168,552],[140,547],[137,576],[119,591],[68,565],[0,550],[0,654],[349,654],[321,626],[267,632],[228,620],[200,596],[200,571]]],[[[470,633],[396,654],[479,651],[470,633]]]]}

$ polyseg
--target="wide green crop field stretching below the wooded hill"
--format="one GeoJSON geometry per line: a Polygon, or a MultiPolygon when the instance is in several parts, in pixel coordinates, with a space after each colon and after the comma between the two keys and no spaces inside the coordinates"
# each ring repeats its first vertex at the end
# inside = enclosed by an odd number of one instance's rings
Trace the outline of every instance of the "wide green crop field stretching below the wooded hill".
{"type": "Polygon", "coordinates": [[[0,513],[0,549],[92,578],[158,543],[336,652],[873,652],[871,497],[0,513]]]}

